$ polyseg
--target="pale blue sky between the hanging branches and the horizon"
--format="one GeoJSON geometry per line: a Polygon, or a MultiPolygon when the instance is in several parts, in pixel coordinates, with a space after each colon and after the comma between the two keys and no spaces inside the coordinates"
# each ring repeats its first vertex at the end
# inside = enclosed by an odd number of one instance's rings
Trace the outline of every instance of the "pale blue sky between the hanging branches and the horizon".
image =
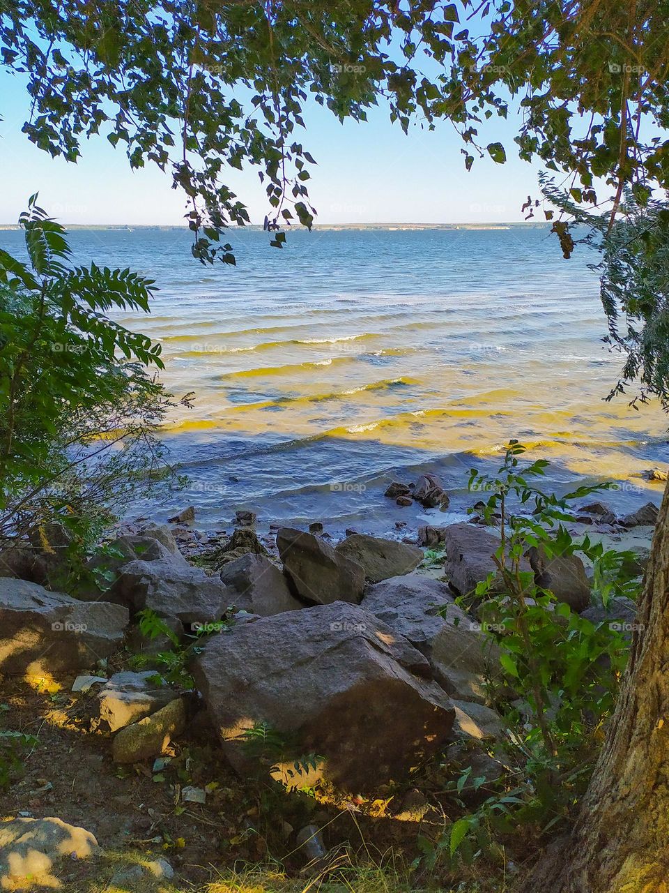
{"type": "MultiPolygon", "coordinates": [[[[65,224],[183,223],[184,198],[171,188],[169,172],[131,171],[122,147],[114,149],[103,137],[82,146],[77,164],[52,159],[21,133],[28,113],[21,79],[0,72],[0,166],[6,171],[0,224],[15,223],[34,192],[65,224]]],[[[317,223],[522,221],[527,196],[539,196],[540,165],[520,161],[514,151],[515,114],[480,129],[483,145],[504,144],[507,163],[476,158],[468,173],[448,122],[434,131],[413,127],[405,136],[383,107],[368,118],[340,124],[316,103],[305,110],[299,139],[318,162],[309,184],[317,223]]],[[[227,185],[247,205],[252,223],[262,223],[269,208],[257,171],[228,174],[227,185]]]]}

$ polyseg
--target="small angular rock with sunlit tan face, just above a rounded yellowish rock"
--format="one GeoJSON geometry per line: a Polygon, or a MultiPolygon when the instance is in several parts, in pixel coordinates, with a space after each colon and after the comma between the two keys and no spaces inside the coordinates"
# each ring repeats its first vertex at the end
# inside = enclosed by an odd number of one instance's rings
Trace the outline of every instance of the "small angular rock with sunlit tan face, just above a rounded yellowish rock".
{"type": "Polygon", "coordinates": [[[153,670],[117,672],[97,693],[94,729],[111,732],[154,714],[178,697],[177,693],[155,681],[153,670]]]}

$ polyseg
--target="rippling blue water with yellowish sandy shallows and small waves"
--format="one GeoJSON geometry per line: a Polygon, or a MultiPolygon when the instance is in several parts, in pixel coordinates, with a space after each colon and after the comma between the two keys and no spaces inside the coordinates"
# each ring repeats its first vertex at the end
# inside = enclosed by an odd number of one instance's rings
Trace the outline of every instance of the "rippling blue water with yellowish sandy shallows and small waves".
{"type": "MultiPolygon", "coordinates": [[[[434,518],[384,499],[389,480],[436,469],[452,493],[443,522],[472,498],[467,472],[492,468],[509,438],[551,462],[549,484],[616,480],[619,508],[659,488],[665,417],[603,397],[622,363],[594,258],[565,261],[547,230],[295,232],[282,251],[254,230],[232,239],[237,266],[205,268],[179,230],[74,231],[78,262],[157,280],[149,318],[117,318],[162,344],[163,380],[194,391],[165,437],[191,477],[171,506],[198,526],[235,508],[264,522],[322,520],[387,530],[434,518]]],[[[21,233],[0,233],[20,252],[21,233]]],[[[608,497],[607,497],[608,498],[608,497]]],[[[131,505],[164,518],[166,510],[131,505]]]]}

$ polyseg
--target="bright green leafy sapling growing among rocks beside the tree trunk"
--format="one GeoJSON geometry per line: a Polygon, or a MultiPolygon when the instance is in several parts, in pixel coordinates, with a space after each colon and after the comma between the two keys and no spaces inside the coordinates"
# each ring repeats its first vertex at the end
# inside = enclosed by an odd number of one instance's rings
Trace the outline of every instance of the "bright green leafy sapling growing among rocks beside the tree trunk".
{"type": "MultiPolygon", "coordinates": [[[[460,599],[501,649],[501,680],[491,680],[489,694],[510,730],[495,752],[506,775],[500,793],[486,797],[475,812],[460,801],[464,814],[436,844],[422,841],[428,864],[438,859],[455,864],[458,857],[468,863],[477,854],[499,861],[503,835],[523,824],[544,833],[568,819],[587,787],[627,661],[629,645],[619,631],[572,612],[524,570],[531,547],[541,548],[548,559],[580,553],[593,563],[593,597],[602,604],[614,595],[638,594],[640,581],[627,570],[630,554],[605,551],[588,537],[574,540],[566,530],[573,519],[569,504],[602,486],[578,488],[562,498],[546,495],[533,479],[543,476],[548,463],[522,468],[523,453],[524,447],[511,440],[496,475],[472,469],[470,488],[491,494],[475,511],[500,524],[498,571],[472,597],[460,599]]],[[[481,788],[484,779],[472,779],[471,772],[466,767],[452,784],[456,800],[466,783],[481,788]]]]}

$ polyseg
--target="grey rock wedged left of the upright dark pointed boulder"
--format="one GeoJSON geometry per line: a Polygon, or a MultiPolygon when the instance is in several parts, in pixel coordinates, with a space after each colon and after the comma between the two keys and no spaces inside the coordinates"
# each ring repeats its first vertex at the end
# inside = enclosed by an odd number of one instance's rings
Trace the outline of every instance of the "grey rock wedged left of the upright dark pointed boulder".
{"type": "Polygon", "coordinates": [[[265,555],[242,555],[223,567],[220,579],[229,589],[231,602],[248,613],[270,617],[304,607],[291,594],[284,574],[265,555]]]}

